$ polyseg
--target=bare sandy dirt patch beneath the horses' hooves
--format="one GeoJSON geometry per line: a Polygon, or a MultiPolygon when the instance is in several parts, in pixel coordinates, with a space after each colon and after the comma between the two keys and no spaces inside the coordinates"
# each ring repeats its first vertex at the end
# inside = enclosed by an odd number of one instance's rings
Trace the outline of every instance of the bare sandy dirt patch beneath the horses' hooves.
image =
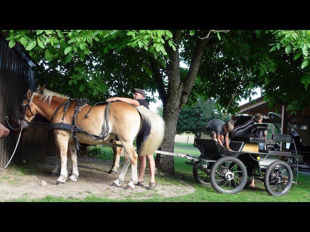
{"type": "MultiPolygon", "coordinates": [[[[122,166],[123,164],[121,164],[122,166]]],[[[179,185],[171,183],[159,183],[154,191],[145,187],[137,186],[135,190],[125,190],[124,187],[130,179],[130,166],[121,188],[110,185],[118,174],[108,174],[111,161],[97,160],[79,157],[77,182],[68,181],[62,185],[55,185],[58,176],[52,175],[51,170],[55,167],[55,158],[47,157],[46,162],[27,163],[25,167],[10,167],[0,171],[0,201],[10,201],[16,198],[26,197],[37,199],[46,196],[85,198],[97,196],[109,199],[146,199],[153,197],[175,197],[186,195],[195,191],[180,180],[179,185]],[[42,186],[42,181],[47,183],[42,186]]],[[[145,182],[149,175],[145,175],[145,182]]]]}

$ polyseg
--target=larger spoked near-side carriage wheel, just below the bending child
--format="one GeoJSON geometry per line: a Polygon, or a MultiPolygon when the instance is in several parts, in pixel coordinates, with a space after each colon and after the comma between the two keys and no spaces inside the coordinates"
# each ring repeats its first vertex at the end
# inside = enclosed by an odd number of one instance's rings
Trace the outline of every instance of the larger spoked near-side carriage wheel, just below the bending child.
{"type": "Polygon", "coordinates": [[[210,182],[218,193],[238,193],[247,182],[246,166],[235,157],[220,158],[211,169],[210,182]]]}

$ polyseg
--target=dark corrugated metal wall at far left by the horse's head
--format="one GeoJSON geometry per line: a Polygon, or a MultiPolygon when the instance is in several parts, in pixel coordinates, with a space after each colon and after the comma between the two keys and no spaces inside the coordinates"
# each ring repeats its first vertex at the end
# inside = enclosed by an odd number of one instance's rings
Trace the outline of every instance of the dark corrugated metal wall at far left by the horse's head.
{"type": "MultiPolygon", "coordinates": [[[[10,49],[8,42],[5,41],[0,34],[0,123],[6,127],[5,116],[9,118],[19,117],[18,107],[24,100],[24,94],[28,89],[33,89],[37,86],[38,81],[35,78],[31,59],[25,55],[23,50],[15,46],[10,49]]],[[[13,158],[15,161],[21,155],[21,144],[25,144],[31,137],[32,146],[36,143],[42,143],[41,134],[45,136],[47,131],[44,127],[34,127],[35,129],[25,132],[24,141],[20,141],[20,145],[16,149],[16,154],[13,158]],[[38,131],[42,133],[37,133],[38,131]],[[31,133],[31,136],[29,136],[31,133]]],[[[4,167],[10,156],[12,155],[18,135],[10,132],[9,136],[0,139],[0,167],[4,167]]]]}

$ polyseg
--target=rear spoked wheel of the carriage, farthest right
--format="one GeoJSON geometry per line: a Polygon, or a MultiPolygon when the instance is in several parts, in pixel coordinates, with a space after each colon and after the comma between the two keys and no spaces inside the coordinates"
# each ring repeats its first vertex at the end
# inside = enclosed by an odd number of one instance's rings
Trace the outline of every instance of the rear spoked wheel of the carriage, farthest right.
{"type": "Polygon", "coordinates": [[[263,184],[267,192],[272,196],[286,194],[293,183],[293,172],[291,167],[284,161],[272,162],[265,171],[263,184]]]}

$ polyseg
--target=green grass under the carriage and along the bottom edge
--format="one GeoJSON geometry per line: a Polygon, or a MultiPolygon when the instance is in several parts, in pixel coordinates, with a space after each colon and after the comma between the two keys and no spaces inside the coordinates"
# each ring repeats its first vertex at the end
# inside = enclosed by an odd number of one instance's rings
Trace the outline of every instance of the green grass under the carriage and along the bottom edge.
{"type": "MultiPolygon", "coordinates": [[[[183,144],[184,148],[180,148],[181,145],[175,148],[175,152],[181,152],[182,149],[186,149],[187,144],[183,144]]],[[[111,149],[105,147],[103,149],[111,149]]],[[[190,150],[187,150],[190,152],[190,150]]],[[[190,153],[188,153],[190,154],[190,153]]],[[[195,151],[192,151],[191,155],[197,155],[195,151]]],[[[105,156],[100,156],[99,159],[113,160],[112,153],[107,153],[105,156]]],[[[62,198],[46,196],[41,199],[27,199],[27,195],[23,198],[15,199],[14,201],[31,201],[31,202],[310,202],[310,176],[304,174],[298,175],[297,185],[293,185],[290,191],[280,197],[270,196],[263,186],[263,182],[255,180],[255,188],[244,188],[237,194],[218,194],[211,186],[199,185],[192,173],[192,166],[185,163],[186,159],[174,157],[174,167],[176,174],[181,175],[182,180],[187,184],[195,188],[195,192],[179,196],[179,197],[162,197],[159,194],[153,195],[149,199],[136,199],[137,197],[143,197],[144,194],[135,195],[131,193],[124,200],[109,199],[105,197],[97,197],[90,195],[84,199],[75,198],[62,198]]],[[[180,179],[175,176],[155,176],[155,180],[161,185],[181,185],[180,179]]]]}

